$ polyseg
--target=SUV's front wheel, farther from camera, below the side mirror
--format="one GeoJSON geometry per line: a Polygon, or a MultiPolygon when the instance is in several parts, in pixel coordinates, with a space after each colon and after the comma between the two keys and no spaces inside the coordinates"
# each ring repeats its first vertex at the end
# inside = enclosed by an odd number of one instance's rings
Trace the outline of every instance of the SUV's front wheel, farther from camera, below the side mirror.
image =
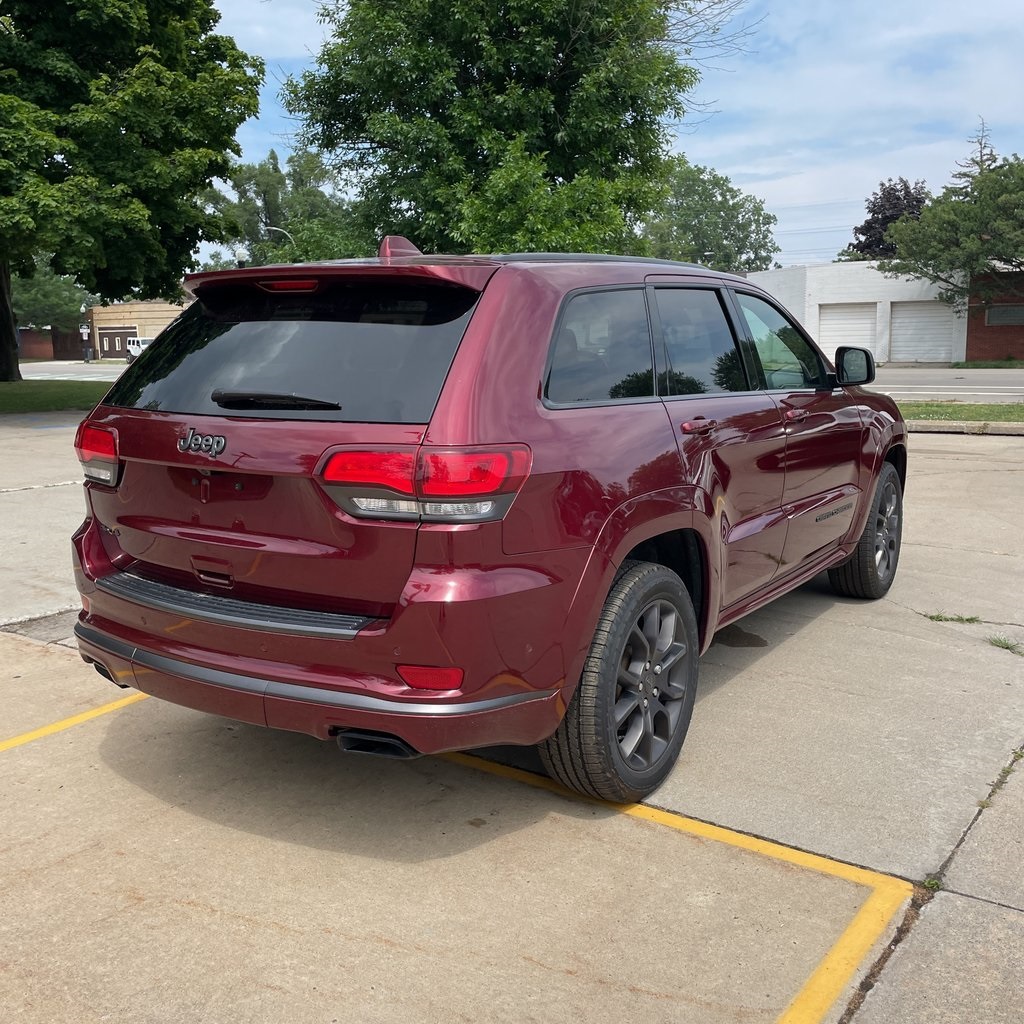
{"type": "Polygon", "coordinates": [[[877,600],[892,586],[903,537],[903,488],[892,463],[884,463],[874,501],[857,549],[842,565],[828,570],[837,594],[877,600]]]}

